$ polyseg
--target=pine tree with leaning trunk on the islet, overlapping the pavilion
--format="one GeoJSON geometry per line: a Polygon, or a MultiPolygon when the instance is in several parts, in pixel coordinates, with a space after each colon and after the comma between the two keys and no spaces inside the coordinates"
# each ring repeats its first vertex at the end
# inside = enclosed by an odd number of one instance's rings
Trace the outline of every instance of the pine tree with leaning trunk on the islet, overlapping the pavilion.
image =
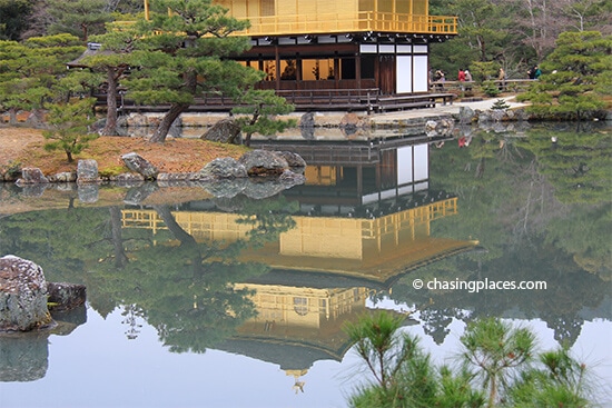
{"type": "Polygon", "coordinates": [[[172,122],[206,91],[239,99],[259,80],[254,69],[225,59],[250,47],[247,37],[230,36],[248,27],[210,0],[160,0],[151,21],[140,21],[138,70],[130,74],[130,97],[139,103],[169,103],[150,141],[164,142],[172,122]],[[167,10],[170,10],[168,13],[167,10]]]}

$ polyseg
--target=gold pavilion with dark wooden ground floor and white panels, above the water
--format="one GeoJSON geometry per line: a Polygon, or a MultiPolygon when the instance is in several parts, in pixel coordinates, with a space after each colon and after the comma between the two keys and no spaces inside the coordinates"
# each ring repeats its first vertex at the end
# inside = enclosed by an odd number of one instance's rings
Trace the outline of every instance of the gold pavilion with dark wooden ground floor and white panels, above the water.
{"type": "Polygon", "coordinates": [[[253,48],[239,59],[277,91],[425,93],[430,44],[457,33],[457,18],[431,16],[428,0],[215,2],[250,21],[253,48]]]}

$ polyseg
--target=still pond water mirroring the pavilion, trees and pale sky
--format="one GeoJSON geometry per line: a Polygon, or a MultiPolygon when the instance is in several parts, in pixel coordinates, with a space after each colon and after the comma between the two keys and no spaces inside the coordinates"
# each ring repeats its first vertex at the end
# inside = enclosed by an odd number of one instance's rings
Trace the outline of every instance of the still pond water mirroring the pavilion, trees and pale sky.
{"type": "Polygon", "coordinates": [[[404,316],[440,362],[474,319],[530,327],[542,349],[571,346],[610,402],[611,131],[296,137],[278,143],[307,181],[269,197],[1,186],[0,256],[88,301],[0,337],[0,405],[346,407],[367,377],[343,325],[371,309],[404,316]]]}

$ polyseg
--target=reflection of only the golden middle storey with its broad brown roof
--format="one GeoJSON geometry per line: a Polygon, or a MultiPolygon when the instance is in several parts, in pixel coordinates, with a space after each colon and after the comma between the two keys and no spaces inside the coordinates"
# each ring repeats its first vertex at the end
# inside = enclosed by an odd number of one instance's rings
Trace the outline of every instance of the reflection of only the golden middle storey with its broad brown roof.
{"type": "MultiPolygon", "coordinates": [[[[434,238],[431,222],[456,213],[457,199],[448,198],[379,218],[293,217],[296,227],[257,250],[245,250],[244,261],[273,269],[317,271],[389,282],[422,265],[473,249],[475,241],[434,238]]],[[[247,239],[251,226],[236,222],[240,215],[174,211],[178,225],[198,241],[233,242],[247,239]]],[[[122,210],[125,228],[166,229],[155,210],[122,210]]]]}

